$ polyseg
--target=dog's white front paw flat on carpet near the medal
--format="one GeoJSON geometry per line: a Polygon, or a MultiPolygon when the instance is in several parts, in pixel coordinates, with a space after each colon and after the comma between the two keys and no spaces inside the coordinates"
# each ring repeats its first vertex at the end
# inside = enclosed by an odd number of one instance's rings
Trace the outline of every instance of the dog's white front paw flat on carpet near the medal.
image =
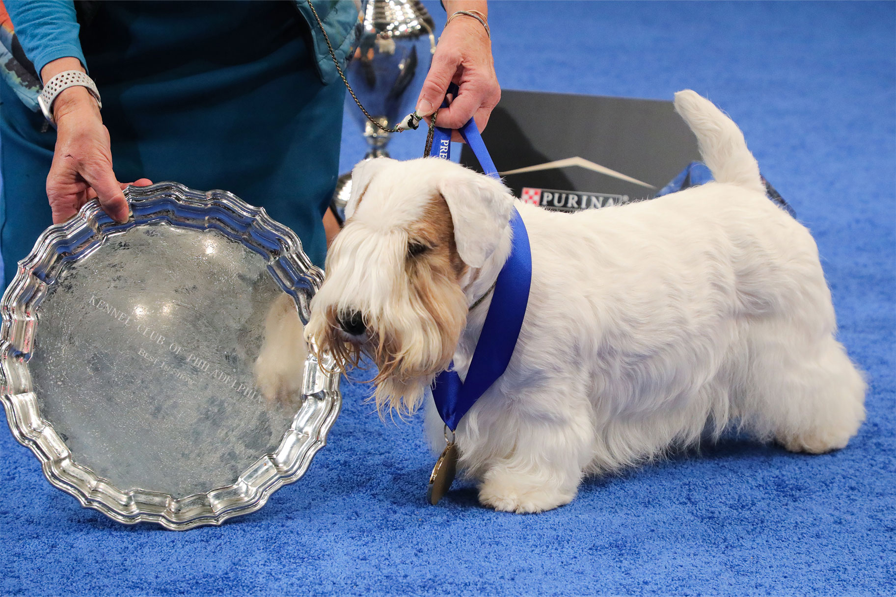
{"type": "Polygon", "coordinates": [[[501,512],[533,514],[573,501],[575,490],[561,490],[538,478],[492,473],[479,486],[479,503],[501,512]]]}

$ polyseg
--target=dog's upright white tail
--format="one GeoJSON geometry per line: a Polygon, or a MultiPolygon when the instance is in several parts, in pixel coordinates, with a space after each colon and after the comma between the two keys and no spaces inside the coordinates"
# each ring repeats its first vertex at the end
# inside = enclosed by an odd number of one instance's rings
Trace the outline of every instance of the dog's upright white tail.
{"type": "Polygon", "coordinates": [[[692,90],[675,94],[676,112],[685,119],[700,143],[700,154],[719,183],[738,184],[765,192],[756,158],[746,149],[744,133],[728,116],[692,90]]]}

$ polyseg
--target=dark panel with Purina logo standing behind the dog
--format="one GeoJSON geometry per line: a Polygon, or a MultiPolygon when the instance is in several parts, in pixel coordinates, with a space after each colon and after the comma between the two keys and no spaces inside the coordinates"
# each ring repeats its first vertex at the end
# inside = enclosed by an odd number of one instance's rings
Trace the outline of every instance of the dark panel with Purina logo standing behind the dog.
{"type": "MultiPolygon", "coordinates": [[[[503,90],[482,134],[498,172],[582,158],[650,185],[588,167],[503,174],[521,197],[531,187],[560,192],[652,197],[700,159],[697,141],[670,101],[503,90]]],[[[461,164],[480,170],[464,145],[461,164]]],[[[481,170],[480,170],[481,171],[481,170]]]]}

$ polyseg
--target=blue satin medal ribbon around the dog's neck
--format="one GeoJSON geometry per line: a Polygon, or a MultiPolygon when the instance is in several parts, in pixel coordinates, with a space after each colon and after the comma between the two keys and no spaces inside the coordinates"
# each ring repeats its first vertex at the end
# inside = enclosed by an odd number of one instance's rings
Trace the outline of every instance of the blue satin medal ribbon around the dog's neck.
{"type": "MultiPolygon", "coordinates": [[[[449,93],[453,92],[456,95],[457,88],[452,87],[453,90],[449,88],[449,93]]],[[[464,124],[459,132],[473,150],[485,173],[498,179],[495,164],[488,155],[486,144],[482,141],[473,119],[470,118],[470,122],[464,124]]],[[[451,133],[450,129],[435,128],[431,156],[445,159],[451,157],[451,133]]],[[[513,231],[510,256],[504,262],[504,267],[495,281],[495,294],[492,295],[486,321],[473,351],[467,378],[461,382],[460,376],[453,371],[452,363],[451,368],[439,373],[433,382],[435,408],[451,431],[457,429],[463,415],[467,414],[488,388],[491,388],[495,380],[504,375],[513,356],[516,341],[520,337],[522,320],[529,304],[532,254],[526,226],[515,208],[512,209],[510,226],[513,231]]]]}

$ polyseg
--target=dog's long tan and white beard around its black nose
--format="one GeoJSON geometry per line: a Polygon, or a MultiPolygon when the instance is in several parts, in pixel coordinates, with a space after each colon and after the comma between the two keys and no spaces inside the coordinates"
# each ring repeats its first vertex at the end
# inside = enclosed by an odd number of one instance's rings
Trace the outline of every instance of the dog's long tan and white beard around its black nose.
{"type": "Polygon", "coordinates": [[[375,362],[374,400],[381,416],[389,409],[402,417],[417,411],[426,387],[451,365],[467,321],[466,297],[449,272],[424,264],[408,279],[397,300],[362,311],[366,342],[352,341],[339,327],[338,316],[351,308],[330,307],[323,315],[313,310],[308,323],[317,350],[332,354],[339,371],[360,368],[364,355],[375,362]]]}

